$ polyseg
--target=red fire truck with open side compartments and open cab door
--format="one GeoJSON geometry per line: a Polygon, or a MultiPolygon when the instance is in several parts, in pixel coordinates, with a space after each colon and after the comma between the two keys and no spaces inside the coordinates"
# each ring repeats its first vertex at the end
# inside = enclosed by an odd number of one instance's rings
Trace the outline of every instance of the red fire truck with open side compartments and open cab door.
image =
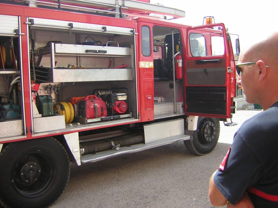
{"type": "Polygon", "coordinates": [[[65,190],[70,162],[179,140],[195,155],[209,153],[219,122],[235,112],[223,23],[190,27],[152,15],[178,18],[181,10],[103,2],[1,0],[4,206],[50,205],[65,190]]]}

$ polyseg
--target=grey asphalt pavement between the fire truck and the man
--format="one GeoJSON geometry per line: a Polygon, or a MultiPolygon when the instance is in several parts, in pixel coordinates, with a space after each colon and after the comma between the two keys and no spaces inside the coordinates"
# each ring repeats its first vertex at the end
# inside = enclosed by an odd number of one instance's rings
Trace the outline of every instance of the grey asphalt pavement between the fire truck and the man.
{"type": "Polygon", "coordinates": [[[209,178],[226,155],[235,131],[259,112],[237,111],[233,122],[238,125],[233,127],[221,122],[219,142],[204,156],[191,155],[180,141],[80,167],[72,164],[69,184],[51,208],[212,208],[207,196],[209,178]]]}

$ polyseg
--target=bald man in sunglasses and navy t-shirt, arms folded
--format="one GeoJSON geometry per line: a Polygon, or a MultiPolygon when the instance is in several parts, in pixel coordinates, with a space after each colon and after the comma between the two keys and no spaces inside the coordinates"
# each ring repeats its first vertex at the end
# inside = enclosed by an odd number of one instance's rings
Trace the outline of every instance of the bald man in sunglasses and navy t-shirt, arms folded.
{"type": "Polygon", "coordinates": [[[239,77],[248,103],[264,109],[234,135],[209,183],[214,206],[278,207],[278,33],[239,55],[239,77]]]}

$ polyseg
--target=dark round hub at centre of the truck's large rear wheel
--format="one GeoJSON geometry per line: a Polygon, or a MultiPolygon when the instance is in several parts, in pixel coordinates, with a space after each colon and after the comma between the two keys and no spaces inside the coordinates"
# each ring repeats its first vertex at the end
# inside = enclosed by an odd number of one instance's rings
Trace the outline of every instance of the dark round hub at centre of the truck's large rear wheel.
{"type": "Polygon", "coordinates": [[[35,162],[27,162],[23,165],[20,171],[21,179],[25,183],[33,183],[41,174],[41,167],[35,162]]]}

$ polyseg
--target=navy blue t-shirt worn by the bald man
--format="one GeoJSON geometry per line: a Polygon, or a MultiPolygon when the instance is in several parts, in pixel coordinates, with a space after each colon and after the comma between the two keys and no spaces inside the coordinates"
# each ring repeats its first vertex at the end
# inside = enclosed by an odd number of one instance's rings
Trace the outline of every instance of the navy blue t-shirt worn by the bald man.
{"type": "MultiPolygon", "coordinates": [[[[225,170],[213,178],[222,195],[236,204],[248,187],[278,197],[278,102],[246,120],[234,136],[225,170]]],[[[278,202],[249,193],[255,208],[278,202]]]]}

